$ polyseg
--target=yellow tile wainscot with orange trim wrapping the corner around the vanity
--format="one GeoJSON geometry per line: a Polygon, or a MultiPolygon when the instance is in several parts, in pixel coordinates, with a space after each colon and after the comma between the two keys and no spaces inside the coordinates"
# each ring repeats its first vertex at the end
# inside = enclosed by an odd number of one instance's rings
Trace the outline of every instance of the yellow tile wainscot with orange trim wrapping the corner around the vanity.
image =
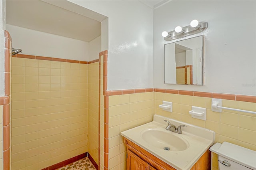
{"type": "MultiPolygon", "coordinates": [[[[108,115],[108,168],[105,169],[126,169],[126,147],[120,132],[152,121],[153,114],[213,130],[216,132],[215,142],[227,141],[256,150],[256,115],[225,109],[222,113],[212,112],[212,98],[222,99],[225,107],[256,111],[255,96],[171,89],[106,91],[108,102],[105,102],[105,107],[107,105],[108,112],[104,117],[108,115]],[[162,101],[173,103],[172,113],[158,107],[162,101]],[[188,112],[192,106],[207,109],[206,121],[191,117],[188,112]]],[[[218,170],[217,155],[213,153],[212,170],[218,170]]]]}

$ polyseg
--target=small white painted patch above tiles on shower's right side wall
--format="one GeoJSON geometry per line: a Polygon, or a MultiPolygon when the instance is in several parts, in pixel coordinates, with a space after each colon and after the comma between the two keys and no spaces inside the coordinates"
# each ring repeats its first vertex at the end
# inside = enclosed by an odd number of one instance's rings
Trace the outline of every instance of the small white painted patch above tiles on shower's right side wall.
{"type": "Polygon", "coordinates": [[[99,53],[101,51],[101,36],[89,42],[88,51],[89,51],[88,61],[99,59],[99,53]]]}

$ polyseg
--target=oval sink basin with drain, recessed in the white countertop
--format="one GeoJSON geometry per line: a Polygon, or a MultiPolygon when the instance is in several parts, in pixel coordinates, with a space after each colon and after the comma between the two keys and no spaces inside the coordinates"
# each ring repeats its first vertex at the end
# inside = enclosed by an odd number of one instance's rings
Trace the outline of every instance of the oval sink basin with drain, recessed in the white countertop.
{"type": "Polygon", "coordinates": [[[142,139],[148,142],[151,146],[164,150],[182,151],[189,146],[185,139],[182,139],[181,137],[178,137],[178,135],[167,130],[146,129],[143,130],[140,135],[142,139]]]}

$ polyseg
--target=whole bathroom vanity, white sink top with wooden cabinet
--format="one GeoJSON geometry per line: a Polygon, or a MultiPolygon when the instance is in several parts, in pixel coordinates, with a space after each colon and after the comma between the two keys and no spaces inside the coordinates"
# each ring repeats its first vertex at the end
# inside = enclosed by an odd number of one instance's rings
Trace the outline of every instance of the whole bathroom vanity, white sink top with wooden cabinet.
{"type": "Polygon", "coordinates": [[[154,115],[150,123],[121,132],[127,146],[127,170],[210,170],[215,132],[154,115]],[[182,133],[166,130],[169,121],[182,133]]]}

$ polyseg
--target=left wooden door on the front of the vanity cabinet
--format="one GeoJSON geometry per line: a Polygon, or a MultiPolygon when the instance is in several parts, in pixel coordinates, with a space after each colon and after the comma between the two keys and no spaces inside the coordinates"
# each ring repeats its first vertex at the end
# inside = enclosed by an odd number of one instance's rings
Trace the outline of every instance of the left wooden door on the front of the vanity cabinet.
{"type": "Polygon", "coordinates": [[[149,165],[136,154],[127,150],[127,170],[149,170],[149,165]]]}

